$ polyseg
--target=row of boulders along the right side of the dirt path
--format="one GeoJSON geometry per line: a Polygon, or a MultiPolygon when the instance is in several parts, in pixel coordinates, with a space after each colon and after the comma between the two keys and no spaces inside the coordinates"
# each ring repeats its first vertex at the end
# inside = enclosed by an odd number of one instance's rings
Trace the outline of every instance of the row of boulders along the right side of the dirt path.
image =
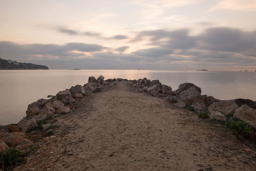
{"type": "MultiPolygon", "coordinates": [[[[122,79],[122,81],[125,81],[122,79]]],[[[151,96],[166,98],[175,107],[193,108],[195,112],[209,111],[209,117],[227,121],[236,117],[256,129],[256,101],[248,99],[218,100],[212,96],[202,95],[200,87],[192,83],[183,83],[172,91],[172,87],[163,85],[159,80],[147,78],[127,81],[134,91],[151,96]]]]}

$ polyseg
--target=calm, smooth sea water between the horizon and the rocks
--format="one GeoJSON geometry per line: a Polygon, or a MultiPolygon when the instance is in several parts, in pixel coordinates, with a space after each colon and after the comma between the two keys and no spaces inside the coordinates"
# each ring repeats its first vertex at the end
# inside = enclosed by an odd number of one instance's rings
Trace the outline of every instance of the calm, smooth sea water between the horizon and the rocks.
{"type": "Polygon", "coordinates": [[[192,82],[202,94],[221,100],[256,100],[256,72],[152,71],[152,70],[0,70],[0,124],[17,123],[26,116],[29,103],[72,85],[84,85],[88,77],[138,79],[147,77],[177,89],[192,82]]]}

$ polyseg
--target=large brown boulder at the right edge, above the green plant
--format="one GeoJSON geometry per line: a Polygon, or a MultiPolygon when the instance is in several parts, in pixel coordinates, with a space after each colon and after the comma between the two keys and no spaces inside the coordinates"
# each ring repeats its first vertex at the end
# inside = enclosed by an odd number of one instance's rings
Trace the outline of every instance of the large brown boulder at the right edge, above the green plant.
{"type": "Polygon", "coordinates": [[[256,129],[256,109],[251,108],[248,105],[243,105],[236,110],[233,117],[246,122],[256,129]]]}

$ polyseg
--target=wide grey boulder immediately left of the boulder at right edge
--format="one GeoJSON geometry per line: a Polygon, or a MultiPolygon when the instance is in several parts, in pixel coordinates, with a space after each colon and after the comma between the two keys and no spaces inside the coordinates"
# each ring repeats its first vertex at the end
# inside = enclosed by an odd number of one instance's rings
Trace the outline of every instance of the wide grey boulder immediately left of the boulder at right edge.
{"type": "Polygon", "coordinates": [[[222,114],[225,114],[228,117],[232,117],[234,112],[237,110],[238,106],[236,104],[236,101],[234,100],[221,100],[212,103],[208,107],[208,110],[214,110],[221,112],[222,114]]]}

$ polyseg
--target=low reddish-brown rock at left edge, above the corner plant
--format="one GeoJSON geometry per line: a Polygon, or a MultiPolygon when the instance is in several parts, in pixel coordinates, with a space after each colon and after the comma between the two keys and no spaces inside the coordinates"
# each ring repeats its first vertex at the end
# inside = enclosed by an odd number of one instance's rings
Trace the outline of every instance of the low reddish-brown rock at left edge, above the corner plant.
{"type": "Polygon", "coordinates": [[[0,140],[10,143],[10,147],[17,147],[26,137],[26,133],[0,133],[0,140]]]}

